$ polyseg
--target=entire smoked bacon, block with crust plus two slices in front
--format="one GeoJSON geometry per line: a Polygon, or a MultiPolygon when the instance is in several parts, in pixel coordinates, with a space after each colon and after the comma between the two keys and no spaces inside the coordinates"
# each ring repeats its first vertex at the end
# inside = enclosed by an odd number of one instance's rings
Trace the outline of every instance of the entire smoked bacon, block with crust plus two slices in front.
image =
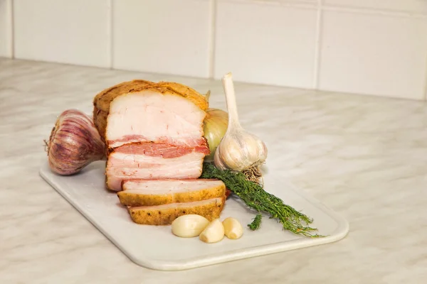
{"type": "Polygon", "coordinates": [[[220,216],[226,187],[199,180],[209,147],[209,104],[173,82],[123,82],[94,99],[94,121],[107,146],[107,188],[137,224],[172,224],[184,214],[220,216]]]}

